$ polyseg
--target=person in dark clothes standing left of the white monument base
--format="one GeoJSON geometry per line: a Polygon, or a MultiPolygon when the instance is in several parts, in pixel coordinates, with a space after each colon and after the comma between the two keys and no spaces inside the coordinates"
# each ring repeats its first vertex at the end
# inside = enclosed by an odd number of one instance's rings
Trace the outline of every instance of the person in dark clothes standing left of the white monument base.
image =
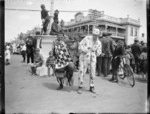
{"type": "Polygon", "coordinates": [[[32,36],[29,36],[27,38],[26,41],[26,50],[27,50],[27,63],[30,63],[30,59],[31,59],[31,63],[34,63],[34,50],[35,50],[35,46],[33,43],[33,38],[32,36]]]}

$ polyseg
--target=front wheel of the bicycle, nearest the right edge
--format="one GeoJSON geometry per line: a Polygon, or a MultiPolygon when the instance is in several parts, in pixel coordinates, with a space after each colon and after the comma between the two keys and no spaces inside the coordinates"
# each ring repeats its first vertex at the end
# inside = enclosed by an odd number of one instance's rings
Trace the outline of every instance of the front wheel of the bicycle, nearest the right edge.
{"type": "Polygon", "coordinates": [[[129,82],[129,84],[133,87],[135,85],[135,79],[134,79],[133,71],[129,65],[125,65],[125,67],[127,69],[127,75],[126,75],[127,80],[129,82]]]}

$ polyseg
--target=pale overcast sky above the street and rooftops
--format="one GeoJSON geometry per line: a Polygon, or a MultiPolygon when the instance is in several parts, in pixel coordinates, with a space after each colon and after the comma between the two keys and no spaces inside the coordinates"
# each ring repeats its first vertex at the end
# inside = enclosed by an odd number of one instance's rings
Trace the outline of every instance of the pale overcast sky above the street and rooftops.
{"type": "MultiPolygon", "coordinates": [[[[40,5],[45,4],[50,10],[51,0],[5,0],[5,41],[14,40],[19,33],[26,33],[35,26],[41,26],[40,5]],[[30,9],[39,11],[19,11],[11,9],[30,9]]],[[[60,11],[88,11],[96,9],[104,14],[117,18],[140,19],[140,36],[147,36],[146,0],[54,0],[54,10],[60,11]]],[[[74,19],[74,12],[60,12],[59,20],[70,21],[74,19]]],[[[86,16],[88,12],[84,12],[86,16]]]]}

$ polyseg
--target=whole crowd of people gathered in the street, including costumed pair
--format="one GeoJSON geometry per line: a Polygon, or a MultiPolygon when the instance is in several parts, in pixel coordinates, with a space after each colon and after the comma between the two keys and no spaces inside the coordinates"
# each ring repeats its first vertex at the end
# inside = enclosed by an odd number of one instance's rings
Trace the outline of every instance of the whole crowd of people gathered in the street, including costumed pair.
{"type": "MultiPolygon", "coordinates": [[[[41,5],[41,19],[43,28],[41,35],[47,32],[49,23],[48,11],[45,5],[41,5]],[[44,33],[43,33],[44,32],[44,33]]],[[[58,31],[58,13],[54,13],[54,22],[51,28],[51,35],[56,35],[57,39],[49,50],[49,57],[45,66],[48,69],[48,75],[55,75],[59,83],[58,90],[63,89],[64,78],[68,79],[68,84],[73,85],[73,72],[78,74],[78,93],[82,93],[84,77],[88,73],[90,76],[89,91],[95,93],[95,76],[107,77],[112,75],[111,82],[118,82],[120,72],[121,58],[126,58],[126,64],[131,66],[133,72],[141,74],[147,78],[147,46],[137,38],[132,45],[126,45],[124,40],[114,40],[108,32],[101,33],[98,28],[94,28],[92,35],[83,35],[82,33],[65,33],[58,31]],[[55,31],[57,30],[57,31],[55,31]],[[53,73],[51,73],[51,69],[53,73]]],[[[26,42],[20,45],[23,61],[31,64],[32,75],[37,75],[37,69],[44,64],[40,49],[37,48],[37,40],[29,36],[26,42]]],[[[39,47],[42,48],[42,39],[39,47]]],[[[10,47],[6,46],[5,59],[10,64],[10,47]]]]}

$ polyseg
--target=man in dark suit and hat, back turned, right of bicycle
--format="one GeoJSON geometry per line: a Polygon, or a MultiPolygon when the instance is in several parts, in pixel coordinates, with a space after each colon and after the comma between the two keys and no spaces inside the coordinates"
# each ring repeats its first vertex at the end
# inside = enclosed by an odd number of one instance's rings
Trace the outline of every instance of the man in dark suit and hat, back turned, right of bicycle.
{"type": "Polygon", "coordinates": [[[131,47],[131,51],[133,53],[134,59],[135,59],[135,73],[139,73],[139,56],[142,52],[141,45],[139,44],[139,40],[137,38],[134,39],[134,44],[131,47]]]}

